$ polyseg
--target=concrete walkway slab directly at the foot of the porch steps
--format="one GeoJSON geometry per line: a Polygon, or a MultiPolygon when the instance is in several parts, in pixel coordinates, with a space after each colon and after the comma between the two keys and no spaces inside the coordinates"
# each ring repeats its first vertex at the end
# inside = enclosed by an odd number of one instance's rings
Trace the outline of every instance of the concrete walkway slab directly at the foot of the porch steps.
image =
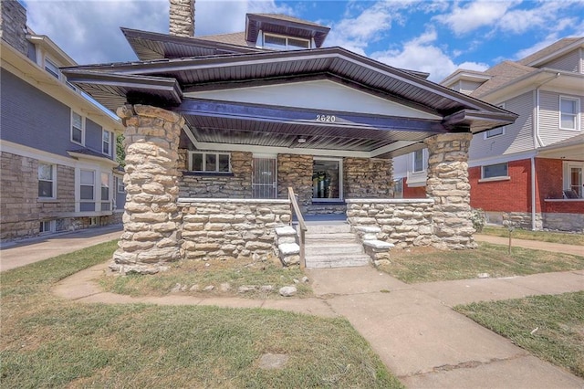
{"type": "Polygon", "coordinates": [[[359,294],[412,287],[370,266],[360,268],[307,269],[315,295],[359,294]]]}

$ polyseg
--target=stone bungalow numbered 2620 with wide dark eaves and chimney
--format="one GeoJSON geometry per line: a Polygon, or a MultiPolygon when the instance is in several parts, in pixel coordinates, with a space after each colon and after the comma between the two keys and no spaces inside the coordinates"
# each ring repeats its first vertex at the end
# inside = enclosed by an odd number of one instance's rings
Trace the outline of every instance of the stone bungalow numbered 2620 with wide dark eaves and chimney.
{"type": "Polygon", "coordinates": [[[346,213],[386,242],[474,247],[468,190],[446,194],[443,180],[464,182],[472,133],[515,114],[323,47],[327,26],[290,16],[247,14],[244,32],[198,37],[193,3],[171,1],[171,34],[122,28],[139,61],[62,69],[126,126],[117,269],[277,249],[288,188],[304,213],[346,213]],[[390,200],[391,158],[424,144],[433,199],[390,200]]]}

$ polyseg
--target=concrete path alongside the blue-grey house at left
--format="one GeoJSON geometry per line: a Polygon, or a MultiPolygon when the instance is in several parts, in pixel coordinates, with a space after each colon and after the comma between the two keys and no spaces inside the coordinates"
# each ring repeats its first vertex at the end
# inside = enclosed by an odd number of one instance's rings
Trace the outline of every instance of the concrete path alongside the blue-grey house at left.
{"type": "Polygon", "coordinates": [[[0,271],[119,239],[121,232],[121,225],[101,226],[3,244],[0,247],[0,271]]]}

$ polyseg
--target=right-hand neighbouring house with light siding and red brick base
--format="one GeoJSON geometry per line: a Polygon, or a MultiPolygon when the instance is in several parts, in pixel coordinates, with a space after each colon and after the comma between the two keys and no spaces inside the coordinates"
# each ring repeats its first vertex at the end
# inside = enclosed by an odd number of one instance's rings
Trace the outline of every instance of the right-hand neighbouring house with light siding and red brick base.
{"type": "MultiPolygon", "coordinates": [[[[519,114],[474,135],[471,206],[489,223],[584,231],[584,38],[482,72],[458,69],[442,85],[519,114]]],[[[394,160],[398,196],[425,196],[426,154],[394,160]]]]}

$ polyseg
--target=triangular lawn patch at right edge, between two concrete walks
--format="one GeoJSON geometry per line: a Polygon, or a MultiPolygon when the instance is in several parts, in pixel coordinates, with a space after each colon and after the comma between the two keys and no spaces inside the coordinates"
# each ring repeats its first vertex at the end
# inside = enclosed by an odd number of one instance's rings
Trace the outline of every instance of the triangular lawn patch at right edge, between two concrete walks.
{"type": "Polygon", "coordinates": [[[584,378],[584,291],[454,309],[537,357],[584,378]]]}

